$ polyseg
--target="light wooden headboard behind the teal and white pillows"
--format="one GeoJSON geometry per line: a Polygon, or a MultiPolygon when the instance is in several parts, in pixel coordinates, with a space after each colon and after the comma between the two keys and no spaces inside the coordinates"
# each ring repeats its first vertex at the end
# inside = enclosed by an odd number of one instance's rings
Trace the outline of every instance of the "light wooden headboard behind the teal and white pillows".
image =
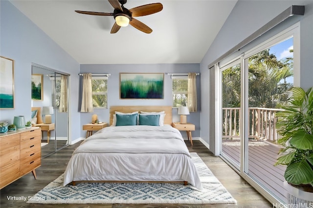
{"type": "Polygon", "coordinates": [[[172,106],[111,106],[110,107],[110,126],[113,123],[113,114],[115,111],[121,113],[132,113],[135,111],[160,112],[165,111],[164,124],[172,124],[172,106]]]}

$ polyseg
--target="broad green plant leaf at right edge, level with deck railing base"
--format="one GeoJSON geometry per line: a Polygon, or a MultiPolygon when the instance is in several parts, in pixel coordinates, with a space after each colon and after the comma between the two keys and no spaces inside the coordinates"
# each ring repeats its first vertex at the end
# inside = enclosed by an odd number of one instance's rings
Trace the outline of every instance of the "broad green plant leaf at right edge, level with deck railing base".
{"type": "Polygon", "coordinates": [[[292,136],[290,144],[300,150],[313,150],[313,135],[297,132],[292,136]]]}

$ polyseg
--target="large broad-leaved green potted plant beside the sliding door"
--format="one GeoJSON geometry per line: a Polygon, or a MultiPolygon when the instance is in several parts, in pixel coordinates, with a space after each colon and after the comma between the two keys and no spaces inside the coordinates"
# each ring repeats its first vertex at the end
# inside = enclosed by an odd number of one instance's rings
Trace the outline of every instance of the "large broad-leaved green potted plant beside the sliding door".
{"type": "Polygon", "coordinates": [[[277,142],[283,148],[275,165],[287,166],[285,186],[291,185],[297,189],[288,191],[290,197],[295,197],[294,194],[300,190],[304,193],[299,195],[307,196],[296,204],[310,204],[313,203],[313,89],[305,92],[300,87],[293,87],[291,91],[288,105],[276,113],[277,132],[281,135],[277,142]]]}

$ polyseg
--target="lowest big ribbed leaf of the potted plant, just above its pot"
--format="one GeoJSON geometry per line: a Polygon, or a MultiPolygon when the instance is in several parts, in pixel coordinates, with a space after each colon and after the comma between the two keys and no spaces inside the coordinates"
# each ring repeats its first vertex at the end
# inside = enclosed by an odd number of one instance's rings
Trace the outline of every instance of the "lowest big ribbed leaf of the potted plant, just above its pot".
{"type": "Polygon", "coordinates": [[[294,185],[310,184],[313,182],[313,170],[305,157],[300,162],[291,163],[287,166],[285,179],[294,185]]]}

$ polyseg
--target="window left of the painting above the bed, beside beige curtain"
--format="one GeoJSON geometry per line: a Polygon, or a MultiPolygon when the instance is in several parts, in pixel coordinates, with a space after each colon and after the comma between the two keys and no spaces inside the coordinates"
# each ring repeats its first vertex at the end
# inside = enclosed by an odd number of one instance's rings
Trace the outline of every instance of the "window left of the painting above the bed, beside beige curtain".
{"type": "Polygon", "coordinates": [[[92,76],[92,103],[94,109],[108,108],[108,77],[107,76],[92,76]]]}

